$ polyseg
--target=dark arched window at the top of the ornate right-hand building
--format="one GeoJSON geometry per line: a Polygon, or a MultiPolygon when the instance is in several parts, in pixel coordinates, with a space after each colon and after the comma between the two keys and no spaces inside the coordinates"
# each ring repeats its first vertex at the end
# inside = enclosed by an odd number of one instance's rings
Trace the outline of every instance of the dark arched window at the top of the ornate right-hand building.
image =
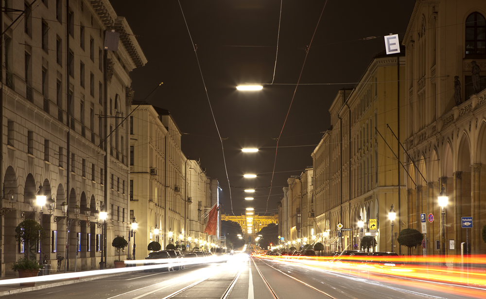
{"type": "Polygon", "coordinates": [[[486,19],[478,12],[466,19],[466,54],[486,54],[486,19]]]}

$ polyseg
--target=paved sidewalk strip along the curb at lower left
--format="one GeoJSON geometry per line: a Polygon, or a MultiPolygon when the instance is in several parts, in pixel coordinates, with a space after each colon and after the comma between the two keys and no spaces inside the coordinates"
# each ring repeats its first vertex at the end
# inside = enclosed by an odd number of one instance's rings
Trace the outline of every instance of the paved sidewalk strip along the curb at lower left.
{"type": "MultiPolygon", "coordinates": [[[[96,269],[93,269],[96,270],[96,269]]],[[[88,270],[92,271],[92,270],[88,270]]],[[[78,272],[86,272],[86,271],[78,271],[78,272]]],[[[68,271],[66,273],[74,273],[74,271],[68,271]]],[[[12,295],[12,294],[18,294],[18,293],[24,293],[24,292],[30,292],[30,291],[35,291],[35,290],[41,290],[41,289],[46,289],[54,286],[60,286],[60,285],[67,285],[71,283],[77,283],[77,282],[83,282],[83,281],[92,281],[96,279],[101,279],[101,278],[107,278],[107,277],[113,277],[113,276],[120,276],[123,274],[126,274],[129,272],[121,272],[121,273],[112,273],[112,274],[105,274],[105,275],[97,275],[97,276],[90,276],[86,278],[73,278],[73,279],[63,279],[63,280],[57,280],[57,281],[37,281],[35,282],[35,286],[20,286],[19,283],[16,284],[10,284],[10,285],[0,285],[0,297],[1,296],[6,296],[6,295],[12,295]]],[[[55,273],[58,274],[58,273],[55,273]]],[[[5,281],[8,279],[14,279],[18,278],[18,276],[10,275],[6,276],[0,281],[5,281]]]]}

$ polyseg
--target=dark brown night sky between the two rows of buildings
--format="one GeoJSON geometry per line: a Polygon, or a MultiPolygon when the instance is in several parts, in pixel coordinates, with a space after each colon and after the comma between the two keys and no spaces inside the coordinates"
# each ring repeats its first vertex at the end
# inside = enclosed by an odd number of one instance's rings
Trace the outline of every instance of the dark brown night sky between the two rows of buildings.
{"type": "Polygon", "coordinates": [[[202,77],[177,0],[111,2],[148,59],[131,73],[135,99],[144,100],[164,83],[148,104],[172,113],[183,133],[183,153],[200,158],[207,176],[223,188],[223,212],[237,215],[246,207],[277,212],[287,178],[312,167],[311,153],[330,127],[329,107],[338,90],[355,86],[372,57],[384,50],[383,35],[403,38],[415,5],[415,0],[329,0],[317,26],[326,1],[284,0],[274,79],[279,0],[181,0],[202,77]],[[371,36],[376,38],[364,40],[371,36]],[[232,200],[203,79],[224,139],[232,200]],[[245,83],[267,85],[261,91],[236,90],[245,83]],[[270,193],[276,139],[289,107],[270,193]],[[243,147],[260,151],[242,153],[243,147]],[[245,173],[257,178],[243,178],[245,173]],[[265,188],[256,188],[255,200],[245,201],[240,187],[265,188]]]}

